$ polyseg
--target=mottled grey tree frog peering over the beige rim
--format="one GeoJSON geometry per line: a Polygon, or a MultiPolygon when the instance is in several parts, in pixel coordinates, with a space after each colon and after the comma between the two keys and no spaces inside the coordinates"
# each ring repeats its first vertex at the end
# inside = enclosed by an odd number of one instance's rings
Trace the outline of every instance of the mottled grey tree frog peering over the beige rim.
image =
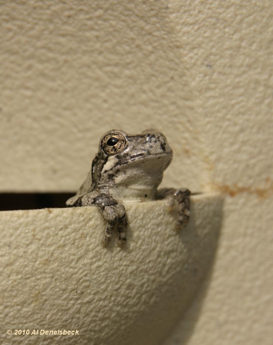
{"type": "Polygon", "coordinates": [[[166,137],[154,129],[137,135],[110,130],[100,138],[91,171],[66,206],[98,207],[106,223],[102,238],[106,245],[114,230],[118,231],[118,243],[126,243],[127,202],[166,198],[169,208],[176,211],[178,228],[182,228],[189,221],[191,192],[186,188],[157,188],[172,158],[166,137]]]}

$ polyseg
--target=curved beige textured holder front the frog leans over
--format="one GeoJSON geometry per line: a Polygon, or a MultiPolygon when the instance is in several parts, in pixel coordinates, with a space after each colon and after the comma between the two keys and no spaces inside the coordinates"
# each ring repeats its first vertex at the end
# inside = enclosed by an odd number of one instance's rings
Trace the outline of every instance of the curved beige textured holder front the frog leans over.
{"type": "Polygon", "coordinates": [[[126,204],[123,247],[116,233],[102,245],[96,207],[0,212],[0,343],[162,343],[208,273],[219,237],[221,197],[191,204],[179,232],[165,200],[126,204]],[[20,329],[30,334],[16,335],[20,329]]]}

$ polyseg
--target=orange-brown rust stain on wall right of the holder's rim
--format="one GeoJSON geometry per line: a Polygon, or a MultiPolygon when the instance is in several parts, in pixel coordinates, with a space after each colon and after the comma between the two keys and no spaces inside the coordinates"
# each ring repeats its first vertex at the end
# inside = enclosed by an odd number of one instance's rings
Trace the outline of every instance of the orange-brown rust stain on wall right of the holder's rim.
{"type": "MultiPolygon", "coordinates": [[[[270,178],[267,179],[270,182],[270,178]]],[[[231,197],[235,197],[241,193],[248,193],[252,195],[256,195],[259,199],[266,199],[273,193],[273,185],[270,184],[265,188],[251,188],[251,187],[244,187],[238,186],[237,184],[234,185],[227,185],[227,184],[217,184],[215,182],[212,183],[212,188],[214,190],[220,191],[223,194],[228,194],[231,197]]]]}

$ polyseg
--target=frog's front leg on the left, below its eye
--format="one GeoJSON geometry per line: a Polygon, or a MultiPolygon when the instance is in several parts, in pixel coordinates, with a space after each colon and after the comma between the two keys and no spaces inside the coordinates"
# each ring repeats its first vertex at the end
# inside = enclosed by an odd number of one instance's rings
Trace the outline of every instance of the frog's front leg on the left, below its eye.
{"type": "Polygon", "coordinates": [[[115,228],[118,230],[119,242],[126,242],[125,228],[127,226],[127,217],[125,207],[117,200],[104,193],[93,198],[92,204],[96,205],[106,220],[106,229],[103,241],[109,243],[115,228]]]}

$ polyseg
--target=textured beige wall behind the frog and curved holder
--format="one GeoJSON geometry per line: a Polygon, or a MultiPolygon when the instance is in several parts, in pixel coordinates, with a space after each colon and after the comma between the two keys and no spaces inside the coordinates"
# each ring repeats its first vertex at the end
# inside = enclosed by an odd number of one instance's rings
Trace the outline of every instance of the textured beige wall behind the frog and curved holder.
{"type": "Polygon", "coordinates": [[[162,130],[163,184],[226,195],[210,282],[169,344],[272,344],[272,1],[0,6],[0,190],[74,190],[103,132],[162,130]]]}

